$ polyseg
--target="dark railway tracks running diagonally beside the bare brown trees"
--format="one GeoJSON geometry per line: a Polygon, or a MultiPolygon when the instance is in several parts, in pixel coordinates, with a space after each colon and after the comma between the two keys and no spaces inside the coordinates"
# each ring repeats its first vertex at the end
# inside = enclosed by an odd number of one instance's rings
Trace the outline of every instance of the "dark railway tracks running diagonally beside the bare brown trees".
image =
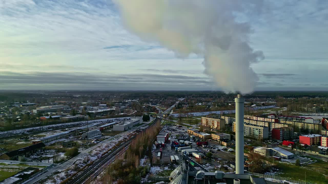
{"type": "MultiPolygon", "coordinates": [[[[157,120],[159,120],[159,118],[157,118],[157,120]]],[[[157,120],[154,120],[154,121],[156,122],[157,120]]],[[[156,123],[153,123],[149,127],[154,126],[155,124],[156,123]]],[[[90,178],[94,179],[110,163],[112,163],[115,160],[116,155],[122,155],[129,148],[130,143],[133,141],[133,139],[135,137],[136,136],[132,136],[126,142],[121,143],[121,145],[119,147],[115,148],[113,151],[111,151],[107,155],[104,155],[100,160],[94,162],[91,166],[89,166],[87,169],[85,169],[82,173],[78,174],[77,176],[72,178],[70,181],[68,181],[67,184],[84,184],[90,178]]]]}

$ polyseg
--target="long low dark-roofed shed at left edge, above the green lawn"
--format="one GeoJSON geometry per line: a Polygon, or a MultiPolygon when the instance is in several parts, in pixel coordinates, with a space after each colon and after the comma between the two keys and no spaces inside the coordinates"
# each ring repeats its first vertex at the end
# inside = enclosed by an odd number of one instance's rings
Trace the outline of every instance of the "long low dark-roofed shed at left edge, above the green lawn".
{"type": "Polygon", "coordinates": [[[0,156],[0,160],[16,160],[19,156],[26,156],[32,153],[35,153],[39,150],[42,150],[46,147],[43,143],[33,144],[31,146],[27,146],[25,148],[21,148],[18,150],[10,151],[0,156]]]}

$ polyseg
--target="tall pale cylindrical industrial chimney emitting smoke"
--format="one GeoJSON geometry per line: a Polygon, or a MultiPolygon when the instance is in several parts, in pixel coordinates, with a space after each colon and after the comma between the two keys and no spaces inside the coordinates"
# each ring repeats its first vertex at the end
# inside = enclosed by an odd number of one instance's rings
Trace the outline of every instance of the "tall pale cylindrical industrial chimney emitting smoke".
{"type": "Polygon", "coordinates": [[[242,95],[237,95],[236,102],[236,174],[244,174],[244,102],[242,95]]]}

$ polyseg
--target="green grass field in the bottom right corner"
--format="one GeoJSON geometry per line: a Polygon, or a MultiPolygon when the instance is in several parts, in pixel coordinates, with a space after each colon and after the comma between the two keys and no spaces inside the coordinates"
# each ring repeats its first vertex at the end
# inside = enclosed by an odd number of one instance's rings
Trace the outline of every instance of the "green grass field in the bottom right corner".
{"type": "Polygon", "coordinates": [[[282,172],[278,176],[291,178],[294,180],[305,180],[317,184],[327,184],[328,183],[328,163],[325,161],[318,161],[313,164],[308,164],[304,166],[296,166],[290,163],[279,162],[277,168],[282,172]]]}

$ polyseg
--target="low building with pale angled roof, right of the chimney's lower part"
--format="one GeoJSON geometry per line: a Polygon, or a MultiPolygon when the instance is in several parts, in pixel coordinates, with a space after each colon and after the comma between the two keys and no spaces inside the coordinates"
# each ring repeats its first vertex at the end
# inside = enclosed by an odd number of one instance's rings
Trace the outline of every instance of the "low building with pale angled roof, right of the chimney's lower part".
{"type": "Polygon", "coordinates": [[[280,158],[284,159],[292,159],[294,158],[294,154],[286,151],[282,148],[279,147],[274,147],[274,148],[268,148],[268,147],[260,147],[260,148],[255,148],[254,153],[257,153],[262,156],[278,156],[280,158]]]}

